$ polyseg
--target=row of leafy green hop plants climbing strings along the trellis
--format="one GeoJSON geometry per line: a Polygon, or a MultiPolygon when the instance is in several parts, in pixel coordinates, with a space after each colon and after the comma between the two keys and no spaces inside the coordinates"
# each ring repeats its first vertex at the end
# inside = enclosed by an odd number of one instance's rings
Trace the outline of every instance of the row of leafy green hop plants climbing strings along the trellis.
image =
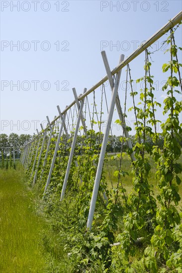
{"type": "MultiPolygon", "coordinates": [[[[101,147],[101,142],[97,139],[100,138],[101,132],[94,132],[91,128],[88,137],[82,136],[83,144],[76,147],[74,154],[66,196],[60,203],[71,143],[71,138],[65,142],[65,138],[61,137],[51,182],[43,202],[46,215],[51,219],[52,231],[57,238],[57,251],[62,247],[65,253],[70,253],[69,260],[66,261],[68,269],[72,272],[182,273],[182,197],[179,195],[182,172],[182,164],[179,162],[182,150],[182,101],[177,100],[178,95],[182,94],[182,65],[178,60],[178,53],[182,48],[175,43],[175,31],[176,28],[171,29],[166,41],[169,44],[167,52],[170,61],[162,67],[163,72],[169,72],[163,86],[163,90],[167,91],[163,114],[168,117],[161,123],[162,133],[157,133],[157,123],[160,121],[156,120],[156,109],[160,108],[161,104],[154,97],[150,52],[145,51],[144,75],[137,80],[143,80],[145,84],[138,92],[133,91],[130,68],[127,68],[130,95],[133,99],[133,107],[130,110],[134,111],[136,120],[137,143],[132,150],[127,150],[128,156],[134,151],[136,158],[131,161],[133,188],[127,194],[123,187],[122,178],[128,173],[122,170],[121,151],[120,168],[114,174],[118,179],[115,187],[108,190],[106,174],[102,171],[91,231],[87,230],[86,224],[101,147]],[[140,95],[138,105],[135,104],[137,95],[140,95]],[[98,137],[93,137],[95,135],[98,137]],[[158,145],[160,135],[164,137],[162,150],[158,145]],[[155,145],[146,141],[147,136],[152,137],[155,145]],[[153,159],[157,169],[157,196],[149,183],[149,157],[153,159]],[[107,202],[103,199],[103,192],[107,196],[107,202]],[[117,246],[114,245],[115,242],[118,242],[117,246]]],[[[55,127],[42,179],[40,176],[46,145],[38,170],[36,187],[40,197],[44,191],[57,137],[58,130],[55,127]]],[[[124,140],[126,139],[123,136],[121,141],[124,140]]],[[[35,156],[35,150],[36,146],[32,158],[35,156]]],[[[107,157],[104,160],[106,163],[107,157]]],[[[27,168],[28,176],[32,166],[33,160],[27,168]]],[[[32,178],[29,183],[32,183],[32,178]]],[[[51,244],[50,239],[47,251],[52,251],[51,244]]],[[[55,252],[52,254],[54,258],[55,252]]],[[[62,263],[60,261],[60,264],[62,263]]]]}

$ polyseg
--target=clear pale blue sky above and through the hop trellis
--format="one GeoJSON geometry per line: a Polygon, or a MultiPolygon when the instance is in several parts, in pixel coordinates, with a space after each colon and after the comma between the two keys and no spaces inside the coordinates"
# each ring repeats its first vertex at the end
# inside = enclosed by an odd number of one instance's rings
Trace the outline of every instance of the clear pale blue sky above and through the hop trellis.
{"type": "MultiPolygon", "coordinates": [[[[32,135],[36,123],[40,131],[47,115],[50,120],[58,115],[58,104],[63,110],[74,100],[73,87],[83,93],[105,76],[102,50],[110,68],[115,68],[120,54],[129,56],[181,9],[181,0],[0,0],[0,133],[32,135]]],[[[151,51],[159,49],[166,37],[151,51]]],[[[175,37],[181,46],[180,29],[175,37]]],[[[169,61],[164,50],[152,56],[152,74],[158,85],[155,95],[160,102],[165,97],[161,82],[167,77],[161,68],[169,61]]],[[[133,79],[143,76],[144,59],[142,54],[131,63],[133,79]]],[[[121,82],[125,79],[123,69],[121,82]]],[[[98,101],[99,91],[95,90],[98,101]]],[[[120,88],[122,106],[123,94],[120,88]]],[[[127,108],[130,104],[128,98],[127,108]]],[[[159,110],[159,118],[161,113],[159,110]]],[[[133,113],[128,113],[130,125],[133,119],[133,113]]]]}

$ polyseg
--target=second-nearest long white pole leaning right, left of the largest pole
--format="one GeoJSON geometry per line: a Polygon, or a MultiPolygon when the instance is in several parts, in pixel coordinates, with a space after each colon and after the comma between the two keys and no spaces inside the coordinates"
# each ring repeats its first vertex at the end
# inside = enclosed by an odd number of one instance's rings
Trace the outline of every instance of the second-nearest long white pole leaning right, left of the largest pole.
{"type": "MultiPolygon", "coordinates": [[[[84,93],[86,91],[87,91],[87,88],[84,89],[84,93]]],[[[65,195],[65,191],[66,191],[66,187],[67,187],[68,177],[69,177],[69,174],[70,174],[70,168],[71,168],[71,165],[72,165],[75,145],[76,145],[78,131],[79,131],[79,127],[80,127],[80,120],[81,120],[82,111],[83,111],[83,107],[84,107],[84,101],[85,101],[85,99],[83,99],[81,101],[81,103],[80,103],[80,108],[79,108],[79,113],[78,113],[78,118],[77,118],[77,125],[76,125],[76,128],[75,128],[75,133],[74,133],[74,137],[73,137],[72,147],[71,147],[71,151],[70,151],[68,166],[67,166],[67,170],[66,170],[66,174],[65,174],[65,179],[64,179],[64,183],[63,183],[63,188],[62,188],[60,200],[63,200],[64,195],[65,195]]]]}

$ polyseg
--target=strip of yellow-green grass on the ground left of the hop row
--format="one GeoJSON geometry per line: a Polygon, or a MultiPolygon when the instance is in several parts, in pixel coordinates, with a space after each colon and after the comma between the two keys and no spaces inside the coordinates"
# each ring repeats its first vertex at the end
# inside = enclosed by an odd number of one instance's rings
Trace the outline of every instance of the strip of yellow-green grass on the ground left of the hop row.
{"type": "Polygon", "coordinates": [[[40,233],[46,222],[35,206],[21,170],[0,170],[0,273],[44,272],[40,233]]]}

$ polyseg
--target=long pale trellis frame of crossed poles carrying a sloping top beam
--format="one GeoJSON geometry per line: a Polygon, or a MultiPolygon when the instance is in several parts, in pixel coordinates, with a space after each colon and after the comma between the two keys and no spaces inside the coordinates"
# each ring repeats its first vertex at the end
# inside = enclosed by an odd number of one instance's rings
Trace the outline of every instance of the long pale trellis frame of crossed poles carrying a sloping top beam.
{"type": "MultiPolygon", "coordinates": [[[[128,127],[126,126],[126,123],[125,123],[125,113],[122,112],[120,99],[118,95],[118,86],[119,86],[120,77],[121,77],[121,70],[122,68],[127,66],[132,60],[134,60],[138,55],[140,55],[143,51],[145,51],[148,47],[150,47],[154,42],[156,42],[160,37],[162,37],[172,27],[180,23],[181,20],[182,20],[182,12],[177,14],[172,20],[170,20],[165,26],[163,26],[158,32],[156,32],[151,38],[149,38],[128,58],[124,59],[124,55],[121,55],[118,66],[114,68],[112,71],[109,68],[106,53],[104,51],[101,52],[107,75],[103,77],[102,80],[96,83],[93,87],[91,87],[91,89],[89,90],[84,89],[83,94],[81,94],[80,96],[77,96],[76,89],[73,88],[75,100],[69,106],[66,106],[65,110],[62,112],[59,106],[57,106],[58,113],[59,113],[58,116],[55,117],[52,122],[50,122],[49,118],[47,117],[48,125],[46,129],[43,130],[41,125],[41,129],[42,129],[41,132],[39,133],[37,131],[37,135],[36,136],[34,135],[32,140],[29,143],[27,143],[25,147],[23,148],[20,162],[25,167],[25,169],[29,169],[31,167],[30,172],[31,172],[32,185],[35,185],[38,179],[44,182],[46,180],[46,184],[44,185],[45,188],[44,188],[43,198],[46,196],[46,191],[48,190],[50,186],[56,160],[59,161],[59,164],[58,164],[58,167],[59,167],[59,165],[62,164],[60,162],[64,161],[66,156],[68,156],[68,153],[69,153],[69,158],[67,162],[65,163],[67,164],[67,168],[64,174],[62,185],[61,185],[62,189],[60,192],[60,200],[62,201],[66,193],[73,159],[75,160],[76,168],[78,168],[79,170],[79,163],[77,161],[78,152],[77,152],[77,156],[75,157],[74,157],[74,154],[76,153],[76,143],[78,140],[78,135],[80,134],[79,132],[81,132],[81,129],[80,129],[81,122],[82,122],[82,129],[83,129],[82,130],[83,132],[81,133],[81,135],[84,136],[83,141],[85,141],[85,139],[91,138],[91,135],[88,136],[88,127],[86,126],[87,111],[85,111],[85,114],[84,114],[84,106],[91,107],[91,105],[88,103],[90,99],[89,95],[92,93],[93,100],[94,100],[94,94],[96,92],[95,90],[99,86],[102,86],[106,80],[109,80],[109,84],[112,90],[112,95],[111,95],[110,105],[108,107],[108,115],[107,115],[107,122],[105,126],[105,132],[102,139],[101,149],[98,150],[98,155],[99,155],[98,160],[95,160],[95,161],[93,160],[92,162],[96,168],[96,174],[94,179],[94,186],[93,186],[93,191],[91,196],[91,205],[90,205],[88,222],[87,222],[87,227],[89,229],[91,229],[91,225],[92,225],[93,214],[95,210],[95,204],[96,204],[96,200],[98,196],[98,190],[99,190],[102,169],[104,164],[106,146],[108,142],[109,132],[111,130],[111,122],[112,122],[113,111],[115,106],[119,116],[120,125],[122,126],[122,129],[123,129],[123,136],[125,136],[126,138],[128,148],[132,149],[132,143],[129,136],[128,127]],[[66,143],[65,145],[68,145],[67,152],[62,150],[63,147],[60,148],[60,142],[63,141],[62,138],[64,138],[65,136],[67,138],[65,140],[65,143],[66,143]],[[51,159],[50,158],[48,159],[48,155],[51,149],[54,150],[54,154],[51,159]],[[60,153],[63,153],[63,154],[60,154],[60,153]],[[49,174],[48,176],[44,177],[46,168],[49,169],[49,174]],[[38,175],[39,170],[40,170],[40,175],[38,175]]],[[[107,104],[107,101],[105,103],[107,104]]],[[[93,105],[92,114],[96,116],[95,114],[97,113],[97,111],[95,111],[96,103],[93,101],[92,105],[93,105]]],[[[91,111],[89,110],[89,112],[90,112],[89,114],[91,118],[91,111]]],[[[102,113],[101,110],[100,110],[100,113],[102,113]]],[[[93,119],[90,119],[90,120],[92,124],[91,128],[93,128],[93,119]]],[[[101,121],[98,121],[99,131],[100,131],[100,128],[101,128],[101,121]]],[[[100,138],[100,135],[99,135],[99,138],[100,138]]],[[[80,146],[80,150],[81,149],[82,147],[80,146]]],[[[133,152],[130,154],[130,157],[132,161],[135,161],[135,155],[133,152]]],[[[79,180],[82,182],[81,174],[79,174],[79,180]]],[[[102,193],[105,200],[104,202],[107,203],[107,196],[103,189],[102,189],[102,193]]]]}

